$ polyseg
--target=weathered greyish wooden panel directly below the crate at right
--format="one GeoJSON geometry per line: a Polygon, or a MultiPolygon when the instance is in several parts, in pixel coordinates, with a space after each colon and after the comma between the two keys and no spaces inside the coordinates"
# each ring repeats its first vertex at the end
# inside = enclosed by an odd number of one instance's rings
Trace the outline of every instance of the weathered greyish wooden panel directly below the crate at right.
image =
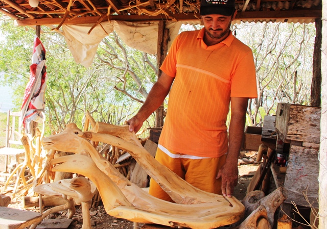
{"type": "Polygon", "coordinates": [[[317,148],[291,145],[284,184],[288,191],[285,202],[308,206],[306,195],[312,206],[318,208],[318,152],[317,148]]]}

